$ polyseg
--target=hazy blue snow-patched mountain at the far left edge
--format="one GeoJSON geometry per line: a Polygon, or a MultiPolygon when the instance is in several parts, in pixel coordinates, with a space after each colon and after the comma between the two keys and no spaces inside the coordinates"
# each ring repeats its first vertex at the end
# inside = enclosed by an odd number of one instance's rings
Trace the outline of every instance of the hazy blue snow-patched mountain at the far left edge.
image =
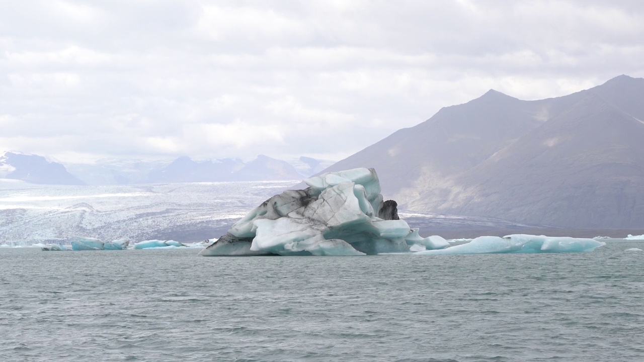
{"type": "Polygon", "coordinates": [[[84,185],[62,164],[49,162],[38,155],[5,152],[0,156],[0,178],[12,178],[31,184],[84,185]]]}

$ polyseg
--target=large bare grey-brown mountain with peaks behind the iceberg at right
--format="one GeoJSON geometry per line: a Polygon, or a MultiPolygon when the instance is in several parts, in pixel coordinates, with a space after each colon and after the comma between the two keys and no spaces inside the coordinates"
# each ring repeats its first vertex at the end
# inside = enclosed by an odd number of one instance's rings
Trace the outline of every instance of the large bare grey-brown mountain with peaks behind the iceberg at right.
{"type": "Polygon", "coordinates": [[[375,167],[401,209],[644,226],[644,79],[519,100],[490,90],[324,170],[375,167]]]}

